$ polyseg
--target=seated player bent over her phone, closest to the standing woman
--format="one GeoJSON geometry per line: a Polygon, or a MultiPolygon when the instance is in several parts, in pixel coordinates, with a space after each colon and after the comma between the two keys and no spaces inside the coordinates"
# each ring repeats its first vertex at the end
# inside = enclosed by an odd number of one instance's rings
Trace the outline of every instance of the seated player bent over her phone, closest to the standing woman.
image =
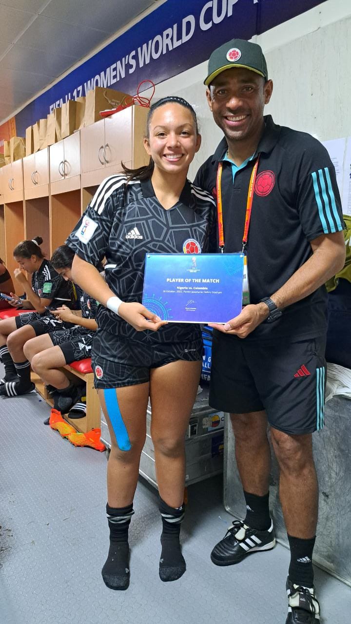
{"type": "MultiPolygon", "coordinates": [[[[61,245],[52,254],[51,265],[65,281],[72,281],[73,258],[74,251],[67,245],[61,245]]],[[[92,339],[97,328],[94,320],[97,301],[84,293],[79,286],[76,291],[80,310],[74,311],[67,306],[61,306],[52,311],[56,318],[65,323],[74,323],[74,326],[68,329],[54,329],[42,336],[31,338],[23,349],[33,371],[45,384],[52,386],[54,409],[51,410],[49,424],[53,428],[56,428],[54,425],[57,422],[62,422],[61,413],[69,411],[81,397],[81,386],[71,384],[62,367],[79,359],[91,357],[92,339]]]]}

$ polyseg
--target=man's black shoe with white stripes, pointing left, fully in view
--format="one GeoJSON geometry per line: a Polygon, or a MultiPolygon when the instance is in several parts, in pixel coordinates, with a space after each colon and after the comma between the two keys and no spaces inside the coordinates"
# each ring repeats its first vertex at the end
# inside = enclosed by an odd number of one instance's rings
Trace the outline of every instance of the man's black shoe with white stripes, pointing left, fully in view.
{"type": "Polygon", "coordinates": [[[211,560],[215,565],[234,565],[252,552],[271,550],[275,546],[273,522],[268,530],[251,529],[242,520],[234,520],[224,538],[215,545],[211,560]]]}

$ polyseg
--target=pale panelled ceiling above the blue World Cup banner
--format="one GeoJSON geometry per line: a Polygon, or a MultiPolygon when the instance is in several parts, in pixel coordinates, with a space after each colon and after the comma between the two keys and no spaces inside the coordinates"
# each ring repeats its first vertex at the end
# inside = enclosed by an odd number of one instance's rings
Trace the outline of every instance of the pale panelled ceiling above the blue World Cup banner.
{"type": "Polygon", "coordinates": [[[0,124],[160,0],[0,0],[0,124]]]}

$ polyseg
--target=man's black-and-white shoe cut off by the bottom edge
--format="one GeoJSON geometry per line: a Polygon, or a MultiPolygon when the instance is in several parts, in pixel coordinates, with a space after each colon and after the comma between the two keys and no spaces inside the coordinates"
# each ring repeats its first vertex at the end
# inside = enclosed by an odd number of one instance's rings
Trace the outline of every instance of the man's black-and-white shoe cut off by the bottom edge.
{"type": "Polygon", "coordinates": [[[317,624],[320,607],[314,587],[294,585],[287,578],[288,615],[285,624],[317,624]]]}

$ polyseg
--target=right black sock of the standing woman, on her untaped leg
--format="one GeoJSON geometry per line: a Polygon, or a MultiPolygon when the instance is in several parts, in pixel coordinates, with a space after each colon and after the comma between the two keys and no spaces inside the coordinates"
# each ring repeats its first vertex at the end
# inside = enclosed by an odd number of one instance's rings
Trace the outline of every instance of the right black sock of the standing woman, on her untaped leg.
{"type": "Polygon", "coordinates": [[[169,507],[159,498],[159,510],[162,516],[162,552],[159,575],[162,581],[175,581],[185,572],[185,559],[180,550],[180,524],[184,519],[184,505],[169,507]]]}

